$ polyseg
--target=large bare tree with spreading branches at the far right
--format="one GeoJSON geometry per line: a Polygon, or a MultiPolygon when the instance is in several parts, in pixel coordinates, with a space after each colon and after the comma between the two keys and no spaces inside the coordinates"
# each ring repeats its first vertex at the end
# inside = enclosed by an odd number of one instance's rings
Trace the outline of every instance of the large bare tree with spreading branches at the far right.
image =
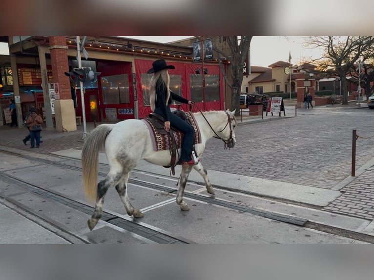
{"type": "Polygon", "coordinates": [[[311,47],[322,47],[325,53],[320,58],[321,70],[330,72],[340,78],[343,93],[343,104],[348,104],[346,75],[352,73],[358,60],[373,56],[374,37],[372,36],[315,36],[306,39],[311,47]]]}

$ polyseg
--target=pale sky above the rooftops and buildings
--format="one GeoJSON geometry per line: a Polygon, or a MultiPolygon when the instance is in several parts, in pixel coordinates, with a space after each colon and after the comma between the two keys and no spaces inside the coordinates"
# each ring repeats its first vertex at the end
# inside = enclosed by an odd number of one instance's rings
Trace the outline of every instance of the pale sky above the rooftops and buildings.
{"type": "MultiPolygon", "coordinates": [[[[190,38],[193,36],[125,36],[127,38],[136,38],[140,40],[154,42],[171,42],[190,38]]],[[[250,64],[251,66],[268,67],[270,64],[278,61],[288,61],[291,51],[291,63],[300,64],[300,59],[305,61],[307,58],[318,59],[322,50],[307,49],[303,46],[303,37],[296,36],[254,36],[250,43],[250,64]]],[[[0,43],[0,54],[9,55],[7,43],[0,43]]]]}

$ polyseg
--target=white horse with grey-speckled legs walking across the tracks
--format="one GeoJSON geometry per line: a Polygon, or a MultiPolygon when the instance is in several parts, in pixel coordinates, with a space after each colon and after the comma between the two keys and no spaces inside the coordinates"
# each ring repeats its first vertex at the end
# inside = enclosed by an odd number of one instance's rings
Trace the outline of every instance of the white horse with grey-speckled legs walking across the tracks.
{"type": "MultiPolygon", "coordinates": [[[[234,113],[235,111],[227,110],[226,112],[210,111],[193,114],[201,134],[201,143],[197,144],[196,147],[198,159],[204,152],[206,142],[212,137],[223,140],[225,146],[229,148],[235,145],[234,128],[236,119],[234,113]]],[[[180,155],[180,150],[177,155],[180,155]]],[[[113,185],[125,205],[127,214],[134,218],[143,217],[143,213],[131,205],[127,196],[129,174],[141,159],[162,166],[170,165],[171,159],[170,151],[154,150],[148,127],[141,120],[132,119],[120,121],[116,124],[101,124],[88,135],[82,150],[82,170],[86,198],[90,201],[96,200],[94,213],[87,221],[90,230],[96,226],[102,217],[104,196],[108,188],[113,185]],[[98,158],[99,152],[103,148],[105,148],[110,170],[105,179],[97,184],[98,158]]],[[[200,162],[194,166],[182,165],[176,201],[184,211],[189,210],[187,203],[183,200],[183,195],[192,167],[203,176],[207,192],[214,195],[207,171],[200,162]]]]}

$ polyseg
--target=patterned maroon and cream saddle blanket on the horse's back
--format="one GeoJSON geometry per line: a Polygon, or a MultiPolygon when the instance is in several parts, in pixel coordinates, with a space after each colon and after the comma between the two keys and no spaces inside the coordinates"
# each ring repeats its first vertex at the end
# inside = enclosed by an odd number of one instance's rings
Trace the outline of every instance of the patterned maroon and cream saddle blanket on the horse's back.
{"type": "MultiPolygon", "coordinates": [[[[185,112],[187,119],[190,121],[195,133],[194,133],[194,144],[201,143],[201,134],[195,117],[191,112],[185,112]]],[[[153,149],[155,151],[169,150],[171,148],[171,140],[168,134],[160,134],[157,132],[156,128],[150,122],[149,118],[142,120],[147,125],[153,144],[153,149]]],[[[176,141],[177,149],[180,149],[182,146],[183,133],[181,131],[172,131],[174,139],[176,141]]]]}

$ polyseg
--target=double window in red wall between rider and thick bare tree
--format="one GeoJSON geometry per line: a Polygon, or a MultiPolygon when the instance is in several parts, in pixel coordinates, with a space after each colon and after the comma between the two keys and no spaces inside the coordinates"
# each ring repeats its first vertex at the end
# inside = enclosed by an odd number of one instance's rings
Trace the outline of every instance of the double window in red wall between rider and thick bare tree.
{"type": "Polygon", "coordinates": [[[203,99],[202,75],[190,75],[191,100],[195,102],[220,101],[219,75],[205,75],[205,100],[203,99]]]}

